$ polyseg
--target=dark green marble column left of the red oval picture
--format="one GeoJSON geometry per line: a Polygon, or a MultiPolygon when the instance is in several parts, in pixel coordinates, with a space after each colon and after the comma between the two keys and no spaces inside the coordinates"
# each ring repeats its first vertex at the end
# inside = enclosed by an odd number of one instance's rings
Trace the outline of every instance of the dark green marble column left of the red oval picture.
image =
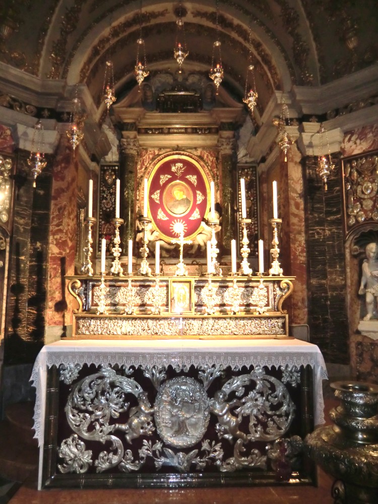
{"type": "Polygon", "coordinates": [[[135,237],[135,182],[137,172],[138,139],[127,136],[121,140],[121,156],[119,164],[121,186],[121,217],[124,219],[122,235],[122,253],[128,253],[128,240],[135,237]]]}

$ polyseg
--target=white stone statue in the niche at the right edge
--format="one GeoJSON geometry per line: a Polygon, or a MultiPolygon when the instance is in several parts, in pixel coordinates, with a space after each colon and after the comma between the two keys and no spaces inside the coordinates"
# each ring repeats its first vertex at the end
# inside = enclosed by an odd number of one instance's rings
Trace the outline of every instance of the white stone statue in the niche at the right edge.
{"type": "Polygon", "coordinates": [[[358,294],[365,294],[366,315],[363,320],[370,320],[376,308],[378,296],[378,243],[366,245],[366,259],[362,263],[361,284],[358,294]]]}

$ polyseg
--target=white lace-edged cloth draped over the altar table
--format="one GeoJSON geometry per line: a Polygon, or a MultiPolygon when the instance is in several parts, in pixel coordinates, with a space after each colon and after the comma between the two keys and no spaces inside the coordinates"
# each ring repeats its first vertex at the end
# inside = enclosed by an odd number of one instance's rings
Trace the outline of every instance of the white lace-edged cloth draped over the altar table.
{"type": "Polygon", "coordinates": [[[31,381],[36,388],[34,429],[43,448],[47,368],[60,364],[155,364],[285,366],[309,364],[313,370],[315,425],[324,423],[322,380],[326,364],[316,345],[287,340],[60,340],[45,345],[34,363],[31,381]]]}

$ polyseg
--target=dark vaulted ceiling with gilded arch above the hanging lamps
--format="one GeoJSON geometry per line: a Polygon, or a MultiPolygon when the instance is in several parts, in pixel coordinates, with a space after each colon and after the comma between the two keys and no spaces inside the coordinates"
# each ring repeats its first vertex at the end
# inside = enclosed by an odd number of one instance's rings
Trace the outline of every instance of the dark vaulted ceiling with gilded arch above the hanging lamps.
{"type": "Polygon", "coordinates": [[[141,27],[151,75],[177,71],[179,8],[189,51],[184,71],[207,76],[219,39],[222,85],[239,100],[251,40],[261,111],[274,90],[324,84],[377,60],[376,0],[2,0],[0,60],[42,79],[85,83],[99,104],[106,60],[117,96],[136,85],[141,27]]]}

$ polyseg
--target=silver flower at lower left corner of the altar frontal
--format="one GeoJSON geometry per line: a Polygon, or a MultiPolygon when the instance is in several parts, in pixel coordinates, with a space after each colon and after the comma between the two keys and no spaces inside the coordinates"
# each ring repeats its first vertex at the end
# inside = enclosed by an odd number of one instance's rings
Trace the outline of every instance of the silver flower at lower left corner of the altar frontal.
{"type": "Polygon", "coordinates": [[[58,456],[65,461],[64,464],[58,464],[61,473],[82,474],[87,472],[89,466],[92,465],[92,450],[86,450],[85,444],[77,434],[72,434],[68,439],[62,440],[58,456]]]}

